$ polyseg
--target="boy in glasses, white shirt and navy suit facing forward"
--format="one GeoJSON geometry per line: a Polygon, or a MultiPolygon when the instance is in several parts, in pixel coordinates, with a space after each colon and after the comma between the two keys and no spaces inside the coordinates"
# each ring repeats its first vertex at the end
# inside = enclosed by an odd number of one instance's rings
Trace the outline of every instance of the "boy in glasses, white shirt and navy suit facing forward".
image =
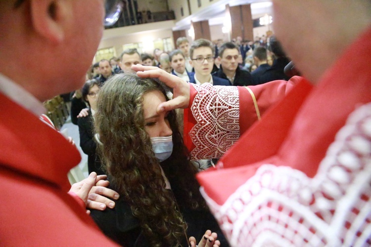
{"type": "Polygon", "coordinates": [[[189,49],[191,60],[189,63],[194,68],[194,76],[189,82],[203,84],[209,82],[212,85],[231,85],[228,80],[211,75],[214,66],[214,46],[211,41],[199,39],[194,41],[189,49]]]}

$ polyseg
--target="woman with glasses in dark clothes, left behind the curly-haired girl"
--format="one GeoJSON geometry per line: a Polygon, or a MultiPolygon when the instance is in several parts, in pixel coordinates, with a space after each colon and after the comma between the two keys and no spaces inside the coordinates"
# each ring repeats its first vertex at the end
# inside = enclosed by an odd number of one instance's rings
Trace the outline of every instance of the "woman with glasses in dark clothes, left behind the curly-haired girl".
{"type": "Polygon", "coordinates": [[[95,79],[85,82],[82,88],[83,99],[89,105],[89,114],[78,118],[77,124],[80,133],[80,147],[88,155],[89,173],[95,171],[101,175],[105,172],[100,167],[99,157],[96,155],[96,144],[94,141],[94,115],[96,111],[96,99],[99,91],[99,82],[95,79]]]}

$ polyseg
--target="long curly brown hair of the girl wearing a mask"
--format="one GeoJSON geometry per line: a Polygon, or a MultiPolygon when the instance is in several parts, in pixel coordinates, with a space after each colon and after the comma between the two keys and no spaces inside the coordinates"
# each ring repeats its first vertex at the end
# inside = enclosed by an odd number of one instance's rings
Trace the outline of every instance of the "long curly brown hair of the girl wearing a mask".
{"type": "Polygon", "coordinates": [[[111,77],[100,89],[95,114],[95,128],[103,145],[98,152],[115,189],[131,206],[134,216],[152,246],[179,246],[186,237],[186,222],[181,208],[206,208],[194,177],[197,169],[178,128],[175,111],[168,120],[173,131],[173,153],[161,164],[152,150],[145,131],[143,95],[164,88],[152,79],[135,74],[111,77]],[[165,189],[164,170],[172,191],[165,189]]]}

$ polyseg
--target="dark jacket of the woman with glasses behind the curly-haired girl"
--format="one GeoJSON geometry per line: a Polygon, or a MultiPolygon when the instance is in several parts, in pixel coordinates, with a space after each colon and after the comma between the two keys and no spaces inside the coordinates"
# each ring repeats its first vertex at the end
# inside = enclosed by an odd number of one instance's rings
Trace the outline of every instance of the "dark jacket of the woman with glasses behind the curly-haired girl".
{"type": "Polygon", "coordinates": [[[92,111],[89,110],[89,115],[84,118],[79,118],[77,120],[77,125],[79,125],[80,133],[80,147],[83,152],[88,155],[88,170],[89,173],[95,171],[96,174],[105,174],[100,168],[99,156],[96,154],[96,143],[94,141],[94,128],[93,128],[93,116],[92,111]]]}

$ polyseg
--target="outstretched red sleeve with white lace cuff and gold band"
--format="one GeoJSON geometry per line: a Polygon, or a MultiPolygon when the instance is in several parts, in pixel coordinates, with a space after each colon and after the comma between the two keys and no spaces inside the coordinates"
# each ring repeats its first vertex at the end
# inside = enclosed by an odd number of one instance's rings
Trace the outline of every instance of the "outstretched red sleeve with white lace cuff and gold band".
{"type": "Polygon", "coordinates": [[[248,88],[192,84],[189,108],[184,113],[185,145],[192,158],[220,158],[298,79],[248,88]]]}

